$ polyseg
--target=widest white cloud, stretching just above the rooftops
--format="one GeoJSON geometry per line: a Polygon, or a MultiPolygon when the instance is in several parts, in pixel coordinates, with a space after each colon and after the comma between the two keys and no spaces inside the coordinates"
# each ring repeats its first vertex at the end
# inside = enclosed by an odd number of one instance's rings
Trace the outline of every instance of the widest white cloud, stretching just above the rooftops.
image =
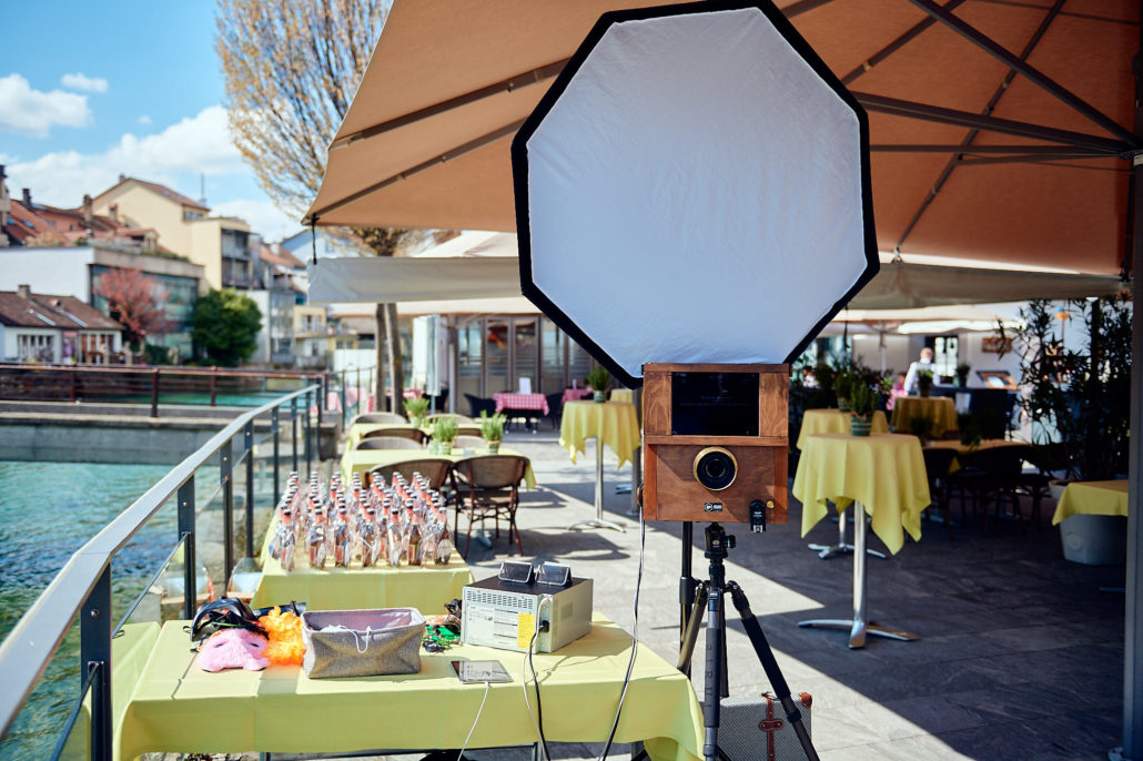
{"type": "Polygon", "coordinates": [[[183,174],[197,187],[199,173],[219,176],[243,170],[241,155],[230,142],[225,109],[209,106],[161,133],[142,137],[127,133],[102,153],[57,151],[17,161],[8,167],[8,186],[31,187],[33,197],[45,203],[74,207],[85,193],[95,195],[111,187],[120,174],[178,190],[183,174]]]}

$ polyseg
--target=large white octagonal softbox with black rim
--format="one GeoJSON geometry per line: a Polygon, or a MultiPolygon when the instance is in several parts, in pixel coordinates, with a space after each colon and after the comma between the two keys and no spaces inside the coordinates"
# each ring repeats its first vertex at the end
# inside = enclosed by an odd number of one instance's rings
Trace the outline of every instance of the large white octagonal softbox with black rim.
{"type": "Polygon", "coordinates": [[[768,2],[605,14],[512,169],[523,295],[629,386],[791,361],[877,272],[864,111],[768,2]]]}

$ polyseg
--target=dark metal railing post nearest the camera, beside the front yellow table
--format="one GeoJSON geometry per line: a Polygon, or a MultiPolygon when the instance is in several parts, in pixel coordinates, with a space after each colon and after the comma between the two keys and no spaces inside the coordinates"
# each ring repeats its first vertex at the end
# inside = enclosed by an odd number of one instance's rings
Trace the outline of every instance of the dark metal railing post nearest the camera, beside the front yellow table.
{"type": "Polygon", "coordinates": [[[99,574],[80,611],[80,673],[91,668],[91,758],[111,761],[111,563],[99,574]]]}

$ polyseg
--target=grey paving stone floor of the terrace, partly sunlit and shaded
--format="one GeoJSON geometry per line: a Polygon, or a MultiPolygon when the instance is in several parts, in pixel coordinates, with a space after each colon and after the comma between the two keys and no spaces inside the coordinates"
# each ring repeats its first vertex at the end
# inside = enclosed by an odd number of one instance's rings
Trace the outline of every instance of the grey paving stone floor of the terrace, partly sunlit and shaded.
{"type": "MultiPolygon", "coordinates": [[[[630,515],[630,496],[615,487],[630,482],[631,468],[616,471],[615,456],[606,452],[605,507],[630,530],[568,531],[593,513],[594,440],[573,464],[544,426],[536,434],[511,432],[506,440],[531,458],[538,482],[523,494],[519,512],[526,556],[566,562],[577,576],[593,578],[597,610],[630,630],[638,519],[630,515]]],[[[952,540],[940,523],[926,522],[921,542],[906,543],[888,560],[870,558],[871,618],[922,639],[873,638],[862,650],[850,650],[840,632],[797,625],[852,612],[852,559],[820,560],[806,548],[834,539],[837,523],[822,521],[802,538],[801,506],[793,503],[786,526],[764,535],[733,529],[738,546],[727,576],[750,596],[792,689],[813,695],[813,737],[823,761],[1096,761],[1120,744],[1124,595],[1100,587],[1121,586],[1124,567],[1064,561],[1050,526],[1053,508],[1045,505],[1040,527],[999,522],[989,535],[969,515],[952,540]]],[[[641,640],[671,662],[678,651],[680,534],[676,523],[648,523],[640,606],[641,640]]],[[[872,547],[884,548],[870,537],[872,547]]],[[[502,538],[491,548],[473,543],[469,561],[482,578],[506,556],[502,538]]],[[[694,558],[696,574],[705,576],[701,552],[694,558]]],[[[733,608],[727,630],[732,695],[769,689],[733,608]]],[[[700,654],[702,647],[700,639],[700,654]]],[[[551,750],[553,758],[580,761],[600,748],[551,750]]],[[[466,755],[530,758],[522,750],[466,755]]],[[[626,748],[612,755],[623,758],[626,748]]]]}

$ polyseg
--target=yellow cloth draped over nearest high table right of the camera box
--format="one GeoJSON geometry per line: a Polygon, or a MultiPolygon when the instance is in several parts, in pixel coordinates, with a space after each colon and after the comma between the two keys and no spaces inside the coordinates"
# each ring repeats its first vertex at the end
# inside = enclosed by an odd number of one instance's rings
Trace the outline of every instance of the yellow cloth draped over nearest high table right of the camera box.
{"type": "Polygon", "coordinates": [[[826,500],[838,510],[857,500],[872,518],[873,531],[896,554],[905,543],[904,531],[920,540],[921,511],[929,504],[920,441],[897,433],[809,436],[798,459],[793,495],[802,503],[802,536],[825,518],[826,500]]]}

